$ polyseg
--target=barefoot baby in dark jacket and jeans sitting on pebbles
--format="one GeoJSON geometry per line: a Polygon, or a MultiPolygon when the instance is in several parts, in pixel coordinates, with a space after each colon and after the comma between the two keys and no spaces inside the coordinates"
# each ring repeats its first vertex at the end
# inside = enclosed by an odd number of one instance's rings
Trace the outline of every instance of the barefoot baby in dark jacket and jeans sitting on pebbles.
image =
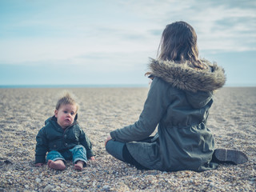
{"type": "Polygon", "coordinates": [[[42,166],[47,162],[54,170],[64,170],[66,160],[72,159],[74,169],[82,170],[87,158],[94,160],[91,142],[80,128],[77,118],[78,104],[66,92],[58,100],[54,116],[48,118],[45,126],[38,132],[35,166],[42,166]]]}

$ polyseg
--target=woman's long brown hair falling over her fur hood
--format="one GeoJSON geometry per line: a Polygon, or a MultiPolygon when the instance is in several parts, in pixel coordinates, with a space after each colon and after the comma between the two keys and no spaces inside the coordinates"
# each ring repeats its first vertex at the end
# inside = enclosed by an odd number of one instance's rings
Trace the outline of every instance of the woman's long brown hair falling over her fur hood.
{"type": "Polygon", "coordinates": [[[158,47],[158,59],[189,61],[198,69],[206,67],[198,59],[197,34],[186,22],[173,22],[166,26],[158,47]]]}

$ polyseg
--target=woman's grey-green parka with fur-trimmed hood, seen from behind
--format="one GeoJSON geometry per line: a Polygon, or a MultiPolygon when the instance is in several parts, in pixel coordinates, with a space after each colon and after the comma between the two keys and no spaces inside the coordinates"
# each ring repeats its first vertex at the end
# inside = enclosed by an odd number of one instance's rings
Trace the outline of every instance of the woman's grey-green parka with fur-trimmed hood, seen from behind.
{"type": "Polygon", "coordinates": [[[126,146],[142,166],[154,170],[216,168],[211,161],[214,138],[206,126],[214,90],[226,82],[224,70],[202,60],[206,70],[194,70],[190,63],[152,60],[154,75],[142,114],[133,125],[114,130],[111,137],[126,146]],[[138,142],[152,134],[154,142],[138,142]]]}

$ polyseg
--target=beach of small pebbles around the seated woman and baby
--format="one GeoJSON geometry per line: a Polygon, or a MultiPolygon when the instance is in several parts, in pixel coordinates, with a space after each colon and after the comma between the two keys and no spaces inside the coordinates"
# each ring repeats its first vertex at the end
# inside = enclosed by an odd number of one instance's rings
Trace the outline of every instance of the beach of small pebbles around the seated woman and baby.
{"type": "Polygon", "coordinates": [[[208,127],[218,148],[242,150],[249,161],[201,173],[137,170],[107,154],[106,135],[138,120],[149,87],[0,89],[1,191],[255,191],[256,87],[224,87],[210,109],[208,127]],[[77,97],[78,122],[93,144],[95,161],[82,171],[34,166],[35,137],[62,90],[77,97]]]}

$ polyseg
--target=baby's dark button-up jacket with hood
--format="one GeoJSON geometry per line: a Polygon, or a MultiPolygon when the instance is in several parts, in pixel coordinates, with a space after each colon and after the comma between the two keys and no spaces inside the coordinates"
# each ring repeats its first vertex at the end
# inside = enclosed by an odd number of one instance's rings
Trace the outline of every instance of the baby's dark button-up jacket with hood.
{"type": "Polygon", "coordinates": [[[46,162],[46,152],[48,151],[57,150],[63,152],[77,145],[82,145],[86,148],[87,158],[94,156],[91,142],[76,120],[65,130],[58,125],[54,116],[48,118],[45,124],[46,126],[39,130],[36,137],[35,163],[46,162]]]}

